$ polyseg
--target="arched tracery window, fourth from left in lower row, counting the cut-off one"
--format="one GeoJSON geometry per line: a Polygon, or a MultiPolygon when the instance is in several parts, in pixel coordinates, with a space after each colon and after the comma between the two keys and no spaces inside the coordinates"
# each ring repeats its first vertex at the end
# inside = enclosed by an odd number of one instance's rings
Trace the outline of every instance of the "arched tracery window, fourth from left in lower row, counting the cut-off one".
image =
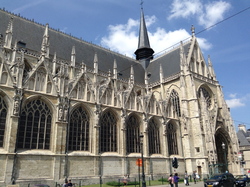
{"type": "Polygon", "coordinates": [[[100,151],[117,152],[117,120],[111,111],[100,118],[100,151]]]}

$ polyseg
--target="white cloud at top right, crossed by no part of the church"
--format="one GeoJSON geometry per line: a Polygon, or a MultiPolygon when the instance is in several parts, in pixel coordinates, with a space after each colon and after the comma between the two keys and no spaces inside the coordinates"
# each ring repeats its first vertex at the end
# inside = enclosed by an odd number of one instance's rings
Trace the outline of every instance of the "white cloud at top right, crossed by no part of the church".
{"type": "Polygon", "coordinates": [[[230,8],[231,4],[222,0],[207,4],[202,3],[201,0],[174,0],[168,19],[196,16],[198,23],[208,28],[223,20],[230,8]]]}

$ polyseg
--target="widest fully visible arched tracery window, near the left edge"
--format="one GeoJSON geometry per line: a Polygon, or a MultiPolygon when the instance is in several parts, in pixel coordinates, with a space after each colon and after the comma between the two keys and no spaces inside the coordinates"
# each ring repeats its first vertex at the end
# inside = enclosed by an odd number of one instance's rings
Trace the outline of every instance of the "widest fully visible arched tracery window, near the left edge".
{"type": "Polygon", "coordinates": [[[51,120],[51,111],[43,101],[29,102],[22,109],[17,148],[49,149],[51,120]]]}

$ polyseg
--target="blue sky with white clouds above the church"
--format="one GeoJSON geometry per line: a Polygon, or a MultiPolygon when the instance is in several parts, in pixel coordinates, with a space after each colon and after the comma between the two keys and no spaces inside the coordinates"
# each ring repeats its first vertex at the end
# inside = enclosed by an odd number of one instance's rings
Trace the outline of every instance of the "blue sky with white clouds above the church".
{"type": "MultiPolygon", "coordinates": [[[[134,57],[138,42],[140,3],[141,0],[0,0],[0,7],[134,57]]],[[[190,28],[194,25],[204,58],[210,55],[217,79],[223,86],[234,125],[237,127],[240,123],[245,124],[248,129],[249,7],[248,0],[143,1],[150,44],[157,55],[190,37],[190,28]],[[247,10],[239,13],[244,9],[247,10]],[[216,26],[203,31],[214,24],[216,26]]]]}

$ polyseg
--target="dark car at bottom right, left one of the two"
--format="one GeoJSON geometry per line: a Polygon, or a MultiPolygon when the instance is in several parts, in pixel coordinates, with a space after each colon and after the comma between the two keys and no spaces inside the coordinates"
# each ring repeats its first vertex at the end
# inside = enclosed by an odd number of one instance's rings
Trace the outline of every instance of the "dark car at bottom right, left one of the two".
{"type": "Polygon", "coordinates": [[[235,187],[235,178],[231,173],[215,174],[204,181],[205,187],[235,187]]]}

